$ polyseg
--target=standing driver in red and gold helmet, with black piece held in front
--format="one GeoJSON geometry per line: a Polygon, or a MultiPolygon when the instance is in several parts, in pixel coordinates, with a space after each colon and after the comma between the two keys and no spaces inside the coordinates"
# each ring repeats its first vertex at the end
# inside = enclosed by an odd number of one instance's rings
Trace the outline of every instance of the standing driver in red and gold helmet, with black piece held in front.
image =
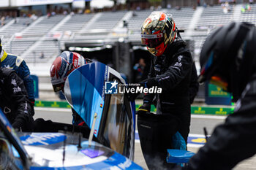
{"type": "Polygon", "coordinates": [[[145,86],[162,88],[162,93],[147,93],[138,109],[140,144],[148,169],[167,168],[170,167],[166,163],[167,149],[173,148],[172,136],[177,131],[184,139],[186,150],[193,60],[173,18],[164,12],[149,15],[141,28],[141,39],[154,55],[145,86]],[[143,112],[150,112],[153,99],[157,101],[157,115],[142,116],[143,112]]]}

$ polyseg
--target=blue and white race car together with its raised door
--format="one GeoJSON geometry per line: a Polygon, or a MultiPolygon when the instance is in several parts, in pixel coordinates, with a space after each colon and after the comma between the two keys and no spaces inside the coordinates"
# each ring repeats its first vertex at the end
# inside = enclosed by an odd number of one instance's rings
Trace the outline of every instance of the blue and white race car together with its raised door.
{"type": "Polygon", "coordinates": [[[135,103],[124,94],[105,94],[105,82],[115,80],[125,84],[118,72],[95,62],[65,83],[67,101],[101,144],[72,131],[16,134],[0,109],[0,169],[142,169],[131,161],[135,103]]]}

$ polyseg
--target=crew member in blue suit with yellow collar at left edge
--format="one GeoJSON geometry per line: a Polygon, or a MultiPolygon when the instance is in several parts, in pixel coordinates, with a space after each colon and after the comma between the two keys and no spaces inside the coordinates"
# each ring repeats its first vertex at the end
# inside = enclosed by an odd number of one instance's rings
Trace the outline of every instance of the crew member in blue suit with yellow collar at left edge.
{"type": "Polygon", "coordinates": [[[31,105],[32,115],[34,115],[34,81],[30,75],[29,67],[23,58],[17,55],[8,54],[1,46],[0,39],[0,58],[1,66],[7,69],[15,70],[18,76],[23,80],[29,95],[29,104],[31,105]]]}

